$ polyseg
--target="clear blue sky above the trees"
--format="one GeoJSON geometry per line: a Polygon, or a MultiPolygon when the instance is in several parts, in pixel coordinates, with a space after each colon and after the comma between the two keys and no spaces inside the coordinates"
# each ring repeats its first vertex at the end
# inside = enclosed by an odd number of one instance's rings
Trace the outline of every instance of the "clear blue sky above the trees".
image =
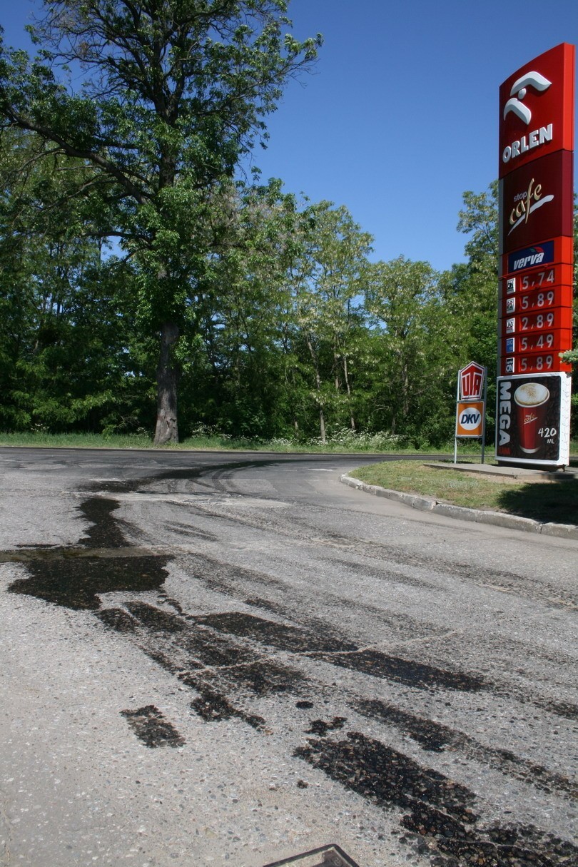
{"type": "MultiPolygon", "coordinates": [[[[35,5],[0,0],[6,42],[35,5]]],[[[578,42],[578,0],[292,0],[289,15],[325,43],[270,116],[263,177],[346,205],[375,259],[463,261],[462,194],[497,177],[499,85],[578,42]]]]}

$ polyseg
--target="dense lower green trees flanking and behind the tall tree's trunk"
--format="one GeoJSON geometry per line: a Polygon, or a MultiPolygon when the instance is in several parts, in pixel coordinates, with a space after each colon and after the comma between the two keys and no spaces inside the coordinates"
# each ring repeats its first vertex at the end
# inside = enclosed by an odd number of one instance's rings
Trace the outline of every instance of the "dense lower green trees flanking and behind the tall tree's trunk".
{"type": "MultiPolygon", "coordinates": [[[[140,262],[94,238],[93,203],[62,190],[79,167],[29,138],[4,139],[0,161],[3,428],[152,433],[140,262]]],[[[451,436],[458,367],[495,368],[493,253],[444,274],[373,262],[347,208],[300,205],[280,182],[223,181],[204,220],[173,354],[181,436],[451,436]]]]}

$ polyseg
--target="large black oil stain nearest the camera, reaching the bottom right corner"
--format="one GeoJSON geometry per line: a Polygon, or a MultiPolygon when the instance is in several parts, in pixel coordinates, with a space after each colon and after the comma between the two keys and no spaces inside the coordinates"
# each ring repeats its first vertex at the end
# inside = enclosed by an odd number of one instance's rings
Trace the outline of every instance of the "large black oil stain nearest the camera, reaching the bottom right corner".
{"type": "MultiPolygon", "coordinates": [[[[568,867],[578,849],[531,826],[478,825],[475,796],[444,774],[358,732],[309,739],[295,755],[382,807],[401,807],[401,825],[419,854],[440,867],[568,867]]],[[[402,838],[403,842],[403,838],[402,838]]],[[[407,840],[406,840],[407,842],[407,840]]]]}

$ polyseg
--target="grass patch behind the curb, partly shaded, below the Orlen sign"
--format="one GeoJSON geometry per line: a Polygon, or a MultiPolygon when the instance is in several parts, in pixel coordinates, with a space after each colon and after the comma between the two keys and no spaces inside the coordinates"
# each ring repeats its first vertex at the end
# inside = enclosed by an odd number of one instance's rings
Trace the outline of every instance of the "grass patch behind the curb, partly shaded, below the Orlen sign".
{"type": "Polygon", "coordinates": [[[350,475],[367,485],[416,493],[468,509],[489,509],[538,521],[578,524],[578,479],[554,482],[491,479],[450,469],[432,469],[419,460],[360,466],[350,475]]]}

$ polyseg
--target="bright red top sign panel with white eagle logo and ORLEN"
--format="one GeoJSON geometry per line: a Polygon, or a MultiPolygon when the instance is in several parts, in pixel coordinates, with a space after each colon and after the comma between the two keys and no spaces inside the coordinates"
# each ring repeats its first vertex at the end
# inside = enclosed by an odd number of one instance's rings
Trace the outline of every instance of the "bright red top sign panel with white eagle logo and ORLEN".
{"type": "Polygon", "coordinates": [[[536,157],[574,148],[575,47],[563,42],[524,64],[500,88],[500,178],[536,157]]]}

